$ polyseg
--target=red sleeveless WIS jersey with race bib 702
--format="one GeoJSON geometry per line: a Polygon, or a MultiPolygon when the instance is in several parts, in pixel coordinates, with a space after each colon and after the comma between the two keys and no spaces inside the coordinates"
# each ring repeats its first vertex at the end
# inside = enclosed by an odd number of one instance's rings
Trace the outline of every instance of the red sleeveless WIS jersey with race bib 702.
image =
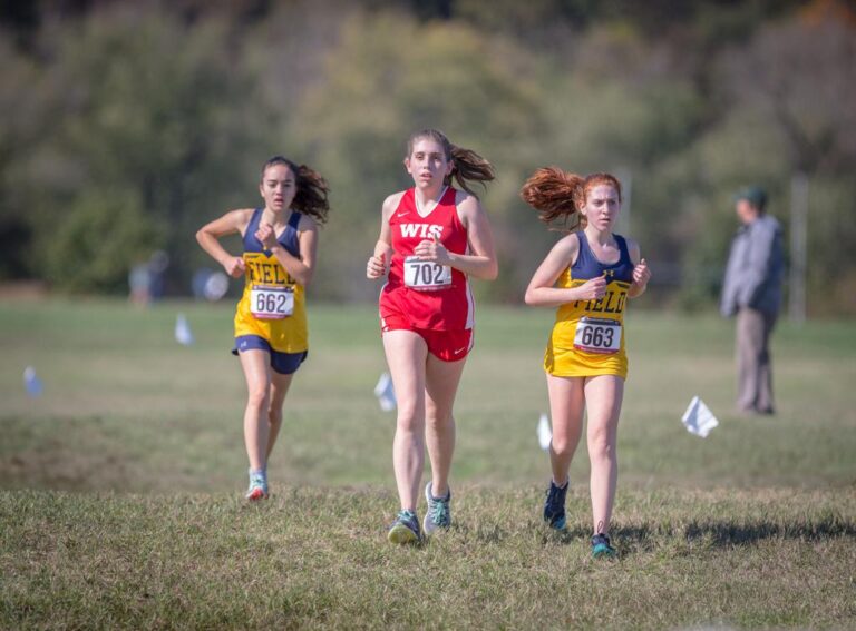
{"type": "Polygon", "coordinates": [[[434,331],[473,328],[474,302],[466,274],[430,262],[419,262],[414,249],[425,239],[437,239],[450,253],[466,254],[467,229],[458,218],[457,191],[448,187],[437,206],[421,217],[416,189],[409,188],[389,218],[392,260],[380,290],[380,314],[403,315],[410,326],[434,331]]]}

